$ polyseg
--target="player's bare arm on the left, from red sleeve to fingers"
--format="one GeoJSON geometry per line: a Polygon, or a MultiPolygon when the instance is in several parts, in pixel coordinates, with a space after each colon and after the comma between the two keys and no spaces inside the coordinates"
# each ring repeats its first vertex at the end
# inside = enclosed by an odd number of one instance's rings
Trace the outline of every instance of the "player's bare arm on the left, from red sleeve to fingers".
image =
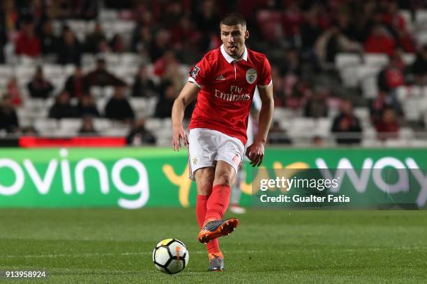
{"type": "Polygon", "coordinates": [[[175,151],[181,148],[181,138],[185,145],[188,145],[188,140],[186,136],[186,132],[183,129],[182,120],[184,116],[184,111],[190,102],[193,102],[197,97],[197,93],[199,93],[200,88],[191,82],[187,82],[187,84],[182,88],[181,93],[174,102],[174,106],[172,107],[172,147],[175,151]]]}

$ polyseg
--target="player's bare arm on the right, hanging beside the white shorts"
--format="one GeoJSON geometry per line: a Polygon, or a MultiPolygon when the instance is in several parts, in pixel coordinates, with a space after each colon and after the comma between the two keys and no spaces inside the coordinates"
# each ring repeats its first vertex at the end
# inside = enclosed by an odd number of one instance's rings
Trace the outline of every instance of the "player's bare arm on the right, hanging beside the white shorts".
{"type": "Polygon", "coordinates": [[[267,142],[267,134],[269,133],[271,119],[273,118],[274,99],[273,99],[273,84],[269,84],[265,88],[258,88],[260,99],[262,102],[258,134],[255,137],[253,144],[246,150],[246,156],[250,159],[252,166],[260,166],[264,159],[264,145],[267,142]]]}

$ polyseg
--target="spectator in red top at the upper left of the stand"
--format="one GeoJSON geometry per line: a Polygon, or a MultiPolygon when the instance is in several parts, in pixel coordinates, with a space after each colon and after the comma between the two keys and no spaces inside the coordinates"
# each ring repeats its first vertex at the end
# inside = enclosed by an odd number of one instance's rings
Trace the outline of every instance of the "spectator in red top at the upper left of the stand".
{"type": "Polygon", "coordinates": [[[34,32],[32,20],[22,22],[20,34],[15,42],[15,54],[37,57],[40,55],[40,39],[34,32]]]}

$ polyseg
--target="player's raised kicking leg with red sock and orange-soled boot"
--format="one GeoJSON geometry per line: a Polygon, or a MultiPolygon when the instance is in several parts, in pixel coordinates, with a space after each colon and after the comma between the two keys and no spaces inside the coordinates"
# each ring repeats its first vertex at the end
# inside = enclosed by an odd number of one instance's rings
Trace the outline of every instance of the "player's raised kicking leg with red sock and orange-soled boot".
{"type": "Polygon", "coordinates": [[[198,236],[200,242],[207,243],[217,237],[229,235],[237,227],[239,220],[235,218],[221,220],[230,203],[231,185],[235,176],[236,168],[234,166],[222,160],[218,161],[212,192],[207,200],[204,227],[198,236]]]}

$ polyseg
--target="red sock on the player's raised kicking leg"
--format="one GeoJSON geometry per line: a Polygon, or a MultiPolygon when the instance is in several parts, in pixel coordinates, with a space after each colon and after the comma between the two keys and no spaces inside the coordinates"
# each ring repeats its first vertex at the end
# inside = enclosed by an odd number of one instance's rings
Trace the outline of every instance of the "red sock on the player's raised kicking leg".
{"type": "Polygon", "coordinates": [[[230,203],[231,188],[228,184],[216,184],[212,187],[211,196],[207,200],[207,211],[204,221],[220,220],[230,203]]]}

